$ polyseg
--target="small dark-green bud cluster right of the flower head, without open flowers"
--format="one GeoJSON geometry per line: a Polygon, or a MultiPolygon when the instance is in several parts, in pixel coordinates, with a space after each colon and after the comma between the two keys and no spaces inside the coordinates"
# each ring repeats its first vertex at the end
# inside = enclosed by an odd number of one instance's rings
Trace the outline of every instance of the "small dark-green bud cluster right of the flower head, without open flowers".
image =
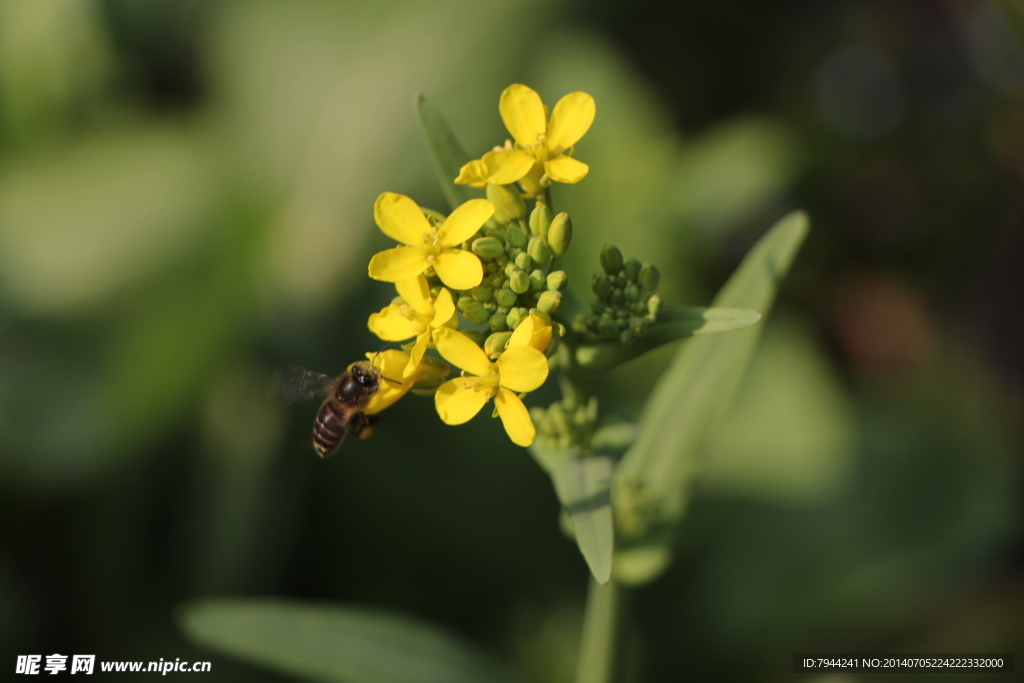
{"type": "Polygon", "coordinates": [[[601,250],[602,272],[594,274],[595,299],[591,310],[572,321],[572,329],[598,339],[628,344],[643,337],[657,321],[662,299],[655,294],[660,275],[653,265],[635,258],[623,259],[613,245],[601,250]]]}

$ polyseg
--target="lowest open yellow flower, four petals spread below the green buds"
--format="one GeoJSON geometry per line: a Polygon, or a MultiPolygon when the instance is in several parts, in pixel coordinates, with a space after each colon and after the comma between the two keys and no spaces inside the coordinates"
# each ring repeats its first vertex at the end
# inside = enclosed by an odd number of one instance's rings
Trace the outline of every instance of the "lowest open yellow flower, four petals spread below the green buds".
{"type": "Polygon", "coordinates": [[[449,380],[434,394],[434,405],[441,420],[450,425],[461,425],[494,398],[498,416],[512,442],[524,446],[532,443],[537,428],[516,394],[532,391],[544,384],[548,379],[548,359],[530,345],[531,339],[532,326],[520,325],[512,333],[505,352],[492,362],[466,335],[447,328],[438,330],[437,352],[464,371],[462,377],[449,380]]]}

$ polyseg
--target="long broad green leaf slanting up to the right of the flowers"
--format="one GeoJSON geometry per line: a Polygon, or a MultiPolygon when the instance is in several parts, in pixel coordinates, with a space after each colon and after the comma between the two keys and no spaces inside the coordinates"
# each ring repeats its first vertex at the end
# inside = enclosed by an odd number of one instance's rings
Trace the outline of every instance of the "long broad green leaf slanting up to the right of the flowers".
{"type": "MultiPolygon", "coordinates": [[[[713,305],[749,308],[767,315],[807,231],[803,212],[779,220],[754,246],[713,305]]],[[[682,517],[698,451],[735,392],[762,327],[690,340],[654,386],[640,417],[637,440],[615,473],[616,494],[620,488],[628,492],[622,499],[637,501],[640,506],[616,510],[636,522],[638,530],[628,542],[642,544],[645,533],[664,532],[666,524],[682,517]]],[[[616,500],[621,500],[617,495],[616,500]]],[[[642,583],[653,578],[636,579],[642,583]]]]}

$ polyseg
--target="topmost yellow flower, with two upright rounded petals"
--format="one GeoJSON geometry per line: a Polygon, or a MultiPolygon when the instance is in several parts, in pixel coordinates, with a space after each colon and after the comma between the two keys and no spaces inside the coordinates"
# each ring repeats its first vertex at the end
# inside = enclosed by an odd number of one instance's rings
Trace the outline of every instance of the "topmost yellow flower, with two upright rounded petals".
{"type": "Polygon", "coordinates": [[[542,178],[575,183],[590,167],[572,159],[571,147],[594,123],[597,106],[586,92],[571,92],[555,104],[551,118],[541,96],[525,85],[505,88],[498,103],[515,146],[495,150],[463,166],[456,182],[482,186],[519,182],[530,196],[543,190],[542,178]]]}

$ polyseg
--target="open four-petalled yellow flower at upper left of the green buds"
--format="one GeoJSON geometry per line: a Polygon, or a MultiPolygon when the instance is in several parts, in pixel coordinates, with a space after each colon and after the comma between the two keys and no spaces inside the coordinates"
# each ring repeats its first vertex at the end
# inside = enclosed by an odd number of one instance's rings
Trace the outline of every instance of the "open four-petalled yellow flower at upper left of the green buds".
{"type": "Polygon", "coordinates": [[[468,290],[483,280],[476,254],[459,249],[495,213],[487,200],[470,200],[452,212],[439,227],[430,224],[416,202],[403,195],[384,193],[374,204],[374,219],[384,234],[406,245],[370,259],[370,276],[386,283],[413,280],[433,266],[441,282],[468,290]]]}

